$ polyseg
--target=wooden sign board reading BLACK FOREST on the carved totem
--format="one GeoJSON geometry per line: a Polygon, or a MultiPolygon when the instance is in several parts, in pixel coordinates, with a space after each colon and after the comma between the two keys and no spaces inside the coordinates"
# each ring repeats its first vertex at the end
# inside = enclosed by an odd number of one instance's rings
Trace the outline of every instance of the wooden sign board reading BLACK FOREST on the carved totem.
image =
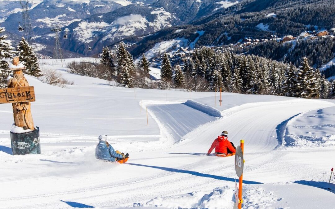
{"type": "Polygon", "coordinates": [[[35,102],[33,86],[0,89],[0,104],[17,102],[35,102]]]}

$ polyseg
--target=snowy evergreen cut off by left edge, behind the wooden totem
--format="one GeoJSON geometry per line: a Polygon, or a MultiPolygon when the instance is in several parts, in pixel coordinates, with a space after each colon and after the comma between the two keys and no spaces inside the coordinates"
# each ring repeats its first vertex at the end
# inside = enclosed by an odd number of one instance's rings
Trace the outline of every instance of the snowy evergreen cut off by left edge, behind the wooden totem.
{"type": "MultiPolygon", "coordinates": [[[[5,32],[4,27],[0,27],[0,34],[5,32]]],[[[0,35],[0,88],[7,87],[7,77],[10,75],[8,71],[8,62],[5,59],[12,58],[14,47],[9,40],[6,40],[7,35],[0,35]]]]}

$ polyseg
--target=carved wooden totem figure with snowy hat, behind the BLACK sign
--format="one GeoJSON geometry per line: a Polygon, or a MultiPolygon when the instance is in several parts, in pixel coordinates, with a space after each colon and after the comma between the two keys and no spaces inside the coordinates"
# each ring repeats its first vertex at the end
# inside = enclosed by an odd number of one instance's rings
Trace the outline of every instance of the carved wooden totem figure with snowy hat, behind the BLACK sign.
{"type": "MultiPolygon", "coordinates": [[[[18,66],[17,68],[11,68],[13,70],[13,77],[8,80],[8,87],[24,87],[29,86],[27,79],[24,77],[22,70],[25,70],[25,67],[19,67],[19,58],[15,57],[13,59],[13,65],[18,66]]],[[[30,102],[19,102],[12,103],[13,105],[13,114],[15,125],[22,127],[23,129],[34,130],[34,121],[32,120],[30,102]]]]}

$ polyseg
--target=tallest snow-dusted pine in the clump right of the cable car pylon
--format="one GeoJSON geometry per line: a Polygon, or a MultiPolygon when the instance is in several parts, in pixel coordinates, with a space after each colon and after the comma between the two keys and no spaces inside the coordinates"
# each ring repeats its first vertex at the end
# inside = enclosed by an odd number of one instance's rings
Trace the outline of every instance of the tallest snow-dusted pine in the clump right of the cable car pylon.
{"type": "Polygon", "coordinates": [[[122,42],[118,45],[117,64],[118,82],[124,87],[133,87],[134,63],[122,42]]]}

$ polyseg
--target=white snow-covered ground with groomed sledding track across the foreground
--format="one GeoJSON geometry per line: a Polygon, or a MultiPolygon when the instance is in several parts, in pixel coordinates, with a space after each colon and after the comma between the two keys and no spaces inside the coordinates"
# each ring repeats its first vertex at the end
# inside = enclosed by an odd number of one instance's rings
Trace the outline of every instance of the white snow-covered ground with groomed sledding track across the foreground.
{"type": "Polygon", "coordinates": [[[334,101],[223,93],[219,106],[214,92],[109,86],[41,63],[74,85],[26,76],[42,154],[11,155],[12,107],[0,105],[0,208],[232,208],[234,158],[205,155],[223,130],[245,140],[243,208],[335,204],[334,101]],[[100,134],[126,164],[95,160],[100,134]]]}

